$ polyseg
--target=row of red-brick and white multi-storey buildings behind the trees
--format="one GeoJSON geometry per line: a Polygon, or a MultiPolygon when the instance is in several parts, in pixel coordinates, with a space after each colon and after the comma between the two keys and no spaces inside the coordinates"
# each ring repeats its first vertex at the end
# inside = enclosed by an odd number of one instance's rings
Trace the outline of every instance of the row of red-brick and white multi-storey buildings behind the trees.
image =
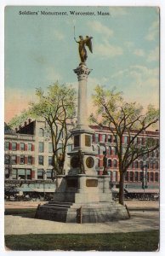
{"type": "MultiPolygon", "coordinates": [[[[113,188],[118,187],[119,170],[116,150],[116,138],[108,127],[91,125],[95,134],[93,137],[94,151],[97,152],[95,168],[98,175],[104,171],[103,158],[106,153],[106,168],[111,176],[113,188]]],[[[68,129],[71,129],[69,127],[68,129]]],[[[134,136],[134,131],[133,131],[134,136]]],[[[159,140],[159,131],[145,131],[137,138],[137,143],[143,145],[145,138],[151,137],[159,140]]],[[[63,137],[59,143],[62,147],[63,137]]],[[[128,135],[122,137],[123,147],[128,143],[128,135]]],[[[69,140],[67,153],[71,151],[72,139],[69,140]]],[[[48,132],[48,126],[44,120],[29,119],[25,125],[16,131],[5,129],[4,135],[4,164],[5,183],[18,183],[17,190],[25,193],[40,192],[53,193],[55,181],[53,180],[52,166],[52,142],[48,132]]],[[[60,151],[59,151],[60,154],[60,151]]],[[[125,176],[126,189],[141,189],[144,170],[144,159],[137,159],[129,166],[125,176]]],[[[70,169],[70,156],[65,158],[65,174],[70,169]]],[[[147,189],[159,189],[159,149],[157,148],[145,159],[145,173],[147,189]]]]}

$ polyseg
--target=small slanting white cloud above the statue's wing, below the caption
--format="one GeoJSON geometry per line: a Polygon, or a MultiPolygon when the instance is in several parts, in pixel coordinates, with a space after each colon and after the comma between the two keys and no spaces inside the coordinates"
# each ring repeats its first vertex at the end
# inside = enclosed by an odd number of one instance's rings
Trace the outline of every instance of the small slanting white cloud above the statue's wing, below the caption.
{"type": "Polygon", "coordinates": [[[88,26],[91,26],[92,29],[95,31],[95,32],[98,32],[100,34],[103,34],[105,35],[106,37],[110,38],[112,35],[113,35],[113,31],[107,27],[107,26],[104,26],[100,21],[98,20],[93,20],[93,21],[89,21],[88,22],[88,26]]]}

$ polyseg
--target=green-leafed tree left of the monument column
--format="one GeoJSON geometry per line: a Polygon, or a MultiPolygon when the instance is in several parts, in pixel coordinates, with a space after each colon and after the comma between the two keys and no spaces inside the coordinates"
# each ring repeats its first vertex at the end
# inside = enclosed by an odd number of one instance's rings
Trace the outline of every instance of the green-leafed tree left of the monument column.
{"type": "Polygon", "coordinates": [[[64,165],[59,170],[59,150],[62,151],[61,161],[64,163],[66,146],[70,137],[67,125],[71,123],[71,119],[74,119],[76,114],[76,91],[71,86],[60,85],[57,82],[48,86],[47,95],[41,88],[36,90],[36,95],[38,102],[31,102],[29,113],[34,118],[43,117],[46,120],[52,139],[54,172],[60,174],[63,172],[64,165]],[[62,136],[62,147],[59,148],[62,136]]]}

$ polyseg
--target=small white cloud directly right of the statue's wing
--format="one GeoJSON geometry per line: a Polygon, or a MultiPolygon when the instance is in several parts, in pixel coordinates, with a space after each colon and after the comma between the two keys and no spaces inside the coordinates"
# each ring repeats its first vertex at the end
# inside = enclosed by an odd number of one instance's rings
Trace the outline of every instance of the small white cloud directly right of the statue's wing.
{"type": "Polygon", "coordinates": [[[116,55],[122,55],[122,48],[119,46],[113,46],[108,41],[104,43],[96,44],[94,47],[95,55],[105,57],[114,57],[116,55]]]}

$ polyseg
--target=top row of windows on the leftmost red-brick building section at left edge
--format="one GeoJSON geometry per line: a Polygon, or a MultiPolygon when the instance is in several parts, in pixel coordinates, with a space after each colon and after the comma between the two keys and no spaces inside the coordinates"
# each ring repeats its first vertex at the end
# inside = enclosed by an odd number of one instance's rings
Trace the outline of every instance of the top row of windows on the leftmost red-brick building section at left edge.
{"type": "Polygon", "coordinates": [[[4,143],[4,150],[21,150],[21,151],[34,151],[34,145],[32,143],[4,143]]]}

